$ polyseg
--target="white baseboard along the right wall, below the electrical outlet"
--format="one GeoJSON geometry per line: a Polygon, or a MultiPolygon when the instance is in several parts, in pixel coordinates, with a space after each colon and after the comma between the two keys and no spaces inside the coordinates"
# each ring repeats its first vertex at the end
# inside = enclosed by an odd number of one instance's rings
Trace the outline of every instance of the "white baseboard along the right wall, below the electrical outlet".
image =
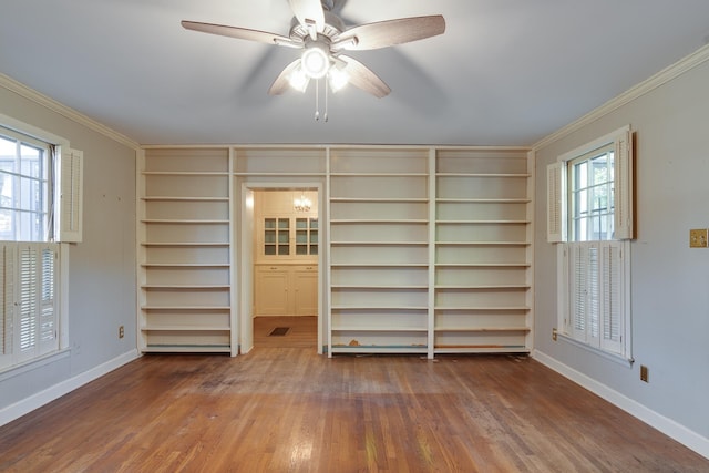
{"type": "Polygon", "coordinates": [[[709,439],[701,436],[697,432],[687,429],[686,426],[653,411],[651,409],[648,409],[639,402],[634,401],[618,391],[615,391],[595,379],[587,377],[580,371],[576,371],[546,353],[534,350],[532,352],[532,358],[558,372],[563,377],[586,388],[594,394],[599,395],[617,408],[623,409],[630,415],[638,418],[646,424],[659,430],[665,435],[675,439],[688,449],[691,449],[700,455],[709,459],[709,439]]]}

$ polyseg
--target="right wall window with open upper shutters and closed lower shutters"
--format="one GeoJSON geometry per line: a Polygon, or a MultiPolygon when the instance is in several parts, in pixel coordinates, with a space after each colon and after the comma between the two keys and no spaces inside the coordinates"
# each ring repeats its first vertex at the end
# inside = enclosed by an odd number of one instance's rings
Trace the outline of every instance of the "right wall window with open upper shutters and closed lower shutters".
{"type": "Polygon", "coordinates": [[[547,169],[547,239],[558,244],[558,331],[630,358],[631,135],[618,130],[547,169]]]}

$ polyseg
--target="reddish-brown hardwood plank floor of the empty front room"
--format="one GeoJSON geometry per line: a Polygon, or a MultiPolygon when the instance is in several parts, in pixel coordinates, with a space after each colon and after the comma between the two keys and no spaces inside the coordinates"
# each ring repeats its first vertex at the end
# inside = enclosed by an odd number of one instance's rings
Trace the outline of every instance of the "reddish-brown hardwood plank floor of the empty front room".
{"type": "Polygon", "coordinates": [[[707,472],[536,361],[150,354],[0,428],[2,472],[707,472]],[[603,413],[602,413],[603,411],[603,413]]]}

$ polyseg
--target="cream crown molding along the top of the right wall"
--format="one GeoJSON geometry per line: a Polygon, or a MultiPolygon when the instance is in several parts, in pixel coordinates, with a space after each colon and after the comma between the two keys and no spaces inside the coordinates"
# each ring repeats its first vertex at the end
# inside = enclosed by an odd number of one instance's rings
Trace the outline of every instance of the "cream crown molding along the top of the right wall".
{"type": "Polygon", "coordinates": [[[594,111],[587,113],[586,115],[582,116],[575,122],[572,122],[568,125],[564,126],[563,128],[557,130],[551,135],[547,135],[544,138],[540,140],[537,143],[532,145],[532,150],[534,151],[541,150],[556,142],[557,140],[568,136],[569,134],[609,114],[610,112],[621,107],[623,105],[626,105],[633,102],[634,100],[654,91],[660,85],[664,85],[672,81],[674,79],[677,79],[678,76],[695,69],[700,64],[703,64],[708,60],[709,60],[709,44],[706,44],[699,48],[693,53],[689,54],[688,56],[679,60],[675,64],[661,70],[657,74],[640,82],[639,84],[621,93],[615,99],[609,100],[605,104],[600,105],[598,109],[595,109],[594,111]]]}

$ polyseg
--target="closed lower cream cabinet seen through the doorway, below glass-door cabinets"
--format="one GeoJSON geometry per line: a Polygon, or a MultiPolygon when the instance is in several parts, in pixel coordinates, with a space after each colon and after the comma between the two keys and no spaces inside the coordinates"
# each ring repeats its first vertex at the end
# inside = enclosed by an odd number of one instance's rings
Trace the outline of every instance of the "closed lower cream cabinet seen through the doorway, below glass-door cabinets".
{"type": "Polygon", "coordinates": [[[316,316],[318,269],[307,265],[256,265],[254,316],[316,316]]]}

